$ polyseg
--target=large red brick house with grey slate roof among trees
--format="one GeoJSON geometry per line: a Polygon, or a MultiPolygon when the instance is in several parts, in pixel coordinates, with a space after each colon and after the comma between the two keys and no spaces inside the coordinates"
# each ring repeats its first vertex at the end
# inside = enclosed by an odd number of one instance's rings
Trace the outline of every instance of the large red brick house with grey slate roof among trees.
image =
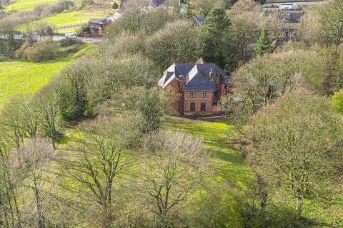
{"type": "Polygon", "coordinates": [[[173,64],[159,80],[161,88],[171,88],[179,95],[173,104],[182,115],[220,114],[217,104],[229,93],[229,76],[215,63],[199,59],[194,64],[173,64]]]}

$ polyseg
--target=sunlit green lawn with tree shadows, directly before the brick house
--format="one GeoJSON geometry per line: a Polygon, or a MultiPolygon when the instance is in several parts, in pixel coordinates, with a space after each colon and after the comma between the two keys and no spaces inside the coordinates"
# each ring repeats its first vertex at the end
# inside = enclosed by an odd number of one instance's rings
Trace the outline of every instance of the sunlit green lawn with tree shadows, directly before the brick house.
{"type": "Polygon", "coordinates": [[[245,164],[239,145],[234,142],[239,137],[234,125],[168,117],[163,126],[203,138],[205,147],[212,155],[210,176],[213,179],[234,182],[242,190],[254,181],[252,170],[245,164]],[[179,123],[180,120],[184,123],[179,123]]]}

